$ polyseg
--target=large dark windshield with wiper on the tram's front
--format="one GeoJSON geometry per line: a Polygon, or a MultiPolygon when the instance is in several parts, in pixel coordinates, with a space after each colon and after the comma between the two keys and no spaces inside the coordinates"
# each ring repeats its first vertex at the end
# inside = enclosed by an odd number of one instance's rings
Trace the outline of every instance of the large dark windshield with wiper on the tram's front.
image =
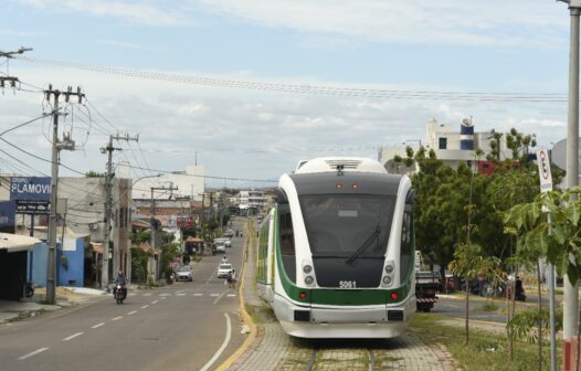
{"type": "Polygon", "coordinates": [[[383,258],[395,198],[384,194],[299,197],[314,257],[383,258]]]}

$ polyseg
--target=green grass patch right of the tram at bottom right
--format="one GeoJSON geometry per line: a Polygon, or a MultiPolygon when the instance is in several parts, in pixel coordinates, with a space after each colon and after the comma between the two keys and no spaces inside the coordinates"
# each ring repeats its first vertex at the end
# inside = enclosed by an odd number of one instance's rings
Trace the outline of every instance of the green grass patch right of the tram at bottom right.
{"type": "MultiPolygon", "coordinates": [[[[410,332],[429,344],[443,343],[452,358],[464,370],[537,370],[539,368],[538,344],[514,341],[513,361],[508,361],[508,343],[505,337],[489,331],[471,329],[469,343],[464,344],[464,328],[447,325],[445,316],[418,314],[410,332]]],[[[550,370],[549,342],[543,342],[542,370],[550,370]]],[[[561,358],[561,347],[557,346],[557,360],[561,358]]]]}

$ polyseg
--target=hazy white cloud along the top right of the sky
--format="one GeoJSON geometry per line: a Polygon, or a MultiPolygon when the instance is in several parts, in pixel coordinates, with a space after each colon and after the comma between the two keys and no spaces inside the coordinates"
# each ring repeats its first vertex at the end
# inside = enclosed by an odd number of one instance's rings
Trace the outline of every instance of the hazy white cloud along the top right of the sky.
{"type": "MultiPolygon", "coordinates": [[[[263,26],[363,42],[554,47],[563,44],[557,31],[567,30],[568,24],[563,7],[554,4],[547,11],[540,0],[191,0],[190,3],[263,26]]],[[[317,39],[309,35],[307,40],[308,44],[317,39]]]]}

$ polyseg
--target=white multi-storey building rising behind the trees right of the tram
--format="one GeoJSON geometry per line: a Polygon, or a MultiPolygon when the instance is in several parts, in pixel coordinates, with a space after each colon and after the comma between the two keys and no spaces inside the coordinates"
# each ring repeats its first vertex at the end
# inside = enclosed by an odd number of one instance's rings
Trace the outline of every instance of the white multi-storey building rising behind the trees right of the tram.
{"type": "MultiPolygon", "coordinates": [[[[475,131],[472,118],[465,118],[457,127],[440,124],[435,118],[426,124],[425,138],[413,140],[413,145],[403,142],[401,146],[383,147],[380,151],[380,162],[392,173],[413,173],[415,167],[406,168],[402,163],[393,161],[395,156],[405,158],[408,146],[418,150],[423,146],[426,150],[434,150],[436,157],[445,165],[456,168],[461,162],[475,161],[474,150],[479,148],[484,155],[478,159],[478,169],[482,172],[492,171],[493,165],[486,161],[486,156],[490,153],[490,141],[494,131],[475,131]]],[[[412,142],[412,140],[410,140],[412,142]]],[[[500,148],[500,159],[511,158],[513,151],[507,148],[504,139],[498,142],[500,148]]]]}

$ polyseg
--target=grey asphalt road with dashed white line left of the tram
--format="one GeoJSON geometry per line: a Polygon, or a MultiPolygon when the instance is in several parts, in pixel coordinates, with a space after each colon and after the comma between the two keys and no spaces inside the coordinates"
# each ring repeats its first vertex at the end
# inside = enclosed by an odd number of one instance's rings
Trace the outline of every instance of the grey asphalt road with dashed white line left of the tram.
{"type": "MultiPolygon", "coordinates": [[[[242,222],[234,222],[242,230],[242,222]]],[[[240,272],[243,239],[228,257],[240,272]]],[[[215,277],[222,255],[193,266],[192,283],[112,296],[0,327],[0,370],[212,370],[244,340],[237,292],[215,277]]]]}

